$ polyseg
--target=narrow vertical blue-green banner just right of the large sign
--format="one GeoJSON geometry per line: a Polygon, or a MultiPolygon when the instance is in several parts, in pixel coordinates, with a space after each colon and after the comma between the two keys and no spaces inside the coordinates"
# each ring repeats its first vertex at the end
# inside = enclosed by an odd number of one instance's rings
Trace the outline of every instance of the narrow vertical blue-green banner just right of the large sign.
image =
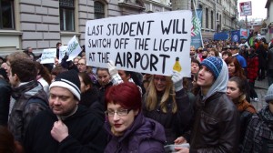
{"type": "Polygon", "coordinates": [[[198,48],[202,46],[202,39],[201,39],[202,9],[197,9],[197,15],[194,13],[191,22],[192,22],[192,28],[191,28],[190,46],[195,46],[195,48],[198,48]]]}

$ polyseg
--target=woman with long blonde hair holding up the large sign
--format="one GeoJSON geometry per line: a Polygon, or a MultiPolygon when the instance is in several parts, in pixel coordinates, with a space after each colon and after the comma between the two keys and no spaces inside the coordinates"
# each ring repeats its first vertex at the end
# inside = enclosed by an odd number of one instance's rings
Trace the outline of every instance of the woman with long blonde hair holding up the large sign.
{"type": "Polygon", "coordinates": [[[175,143],[188,128],[193,115],[192,104],[182,86],[182,76],[153,75],[143,97],[143,114],[165,128],[167,144],[175,143]]]}

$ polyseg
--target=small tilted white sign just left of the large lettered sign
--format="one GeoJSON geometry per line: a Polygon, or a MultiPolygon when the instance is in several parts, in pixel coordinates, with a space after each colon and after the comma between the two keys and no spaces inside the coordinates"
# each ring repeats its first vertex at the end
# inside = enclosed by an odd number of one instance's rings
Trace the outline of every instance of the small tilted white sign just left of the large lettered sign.
{"type": "Polygon", "coordinates": [[[81,46],[76,40],[76,36],[73,36],[67,46],[60,46],[59,48],[59,63],[61,63],[65,55],[69,56],[67,61],[73,60],[82,51],[81,46]]]}

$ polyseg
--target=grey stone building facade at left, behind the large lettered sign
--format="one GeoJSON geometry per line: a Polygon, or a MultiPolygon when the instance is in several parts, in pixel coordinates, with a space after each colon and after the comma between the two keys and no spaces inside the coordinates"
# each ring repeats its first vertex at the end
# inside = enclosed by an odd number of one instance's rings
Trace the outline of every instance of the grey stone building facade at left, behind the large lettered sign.
{"type": "Polygon", "coordinates": [[[0,56],[28,46],[41,53],[73,36],[84,45],[87,20],[170,10],[168,0],[1,0],[0,56]]]}

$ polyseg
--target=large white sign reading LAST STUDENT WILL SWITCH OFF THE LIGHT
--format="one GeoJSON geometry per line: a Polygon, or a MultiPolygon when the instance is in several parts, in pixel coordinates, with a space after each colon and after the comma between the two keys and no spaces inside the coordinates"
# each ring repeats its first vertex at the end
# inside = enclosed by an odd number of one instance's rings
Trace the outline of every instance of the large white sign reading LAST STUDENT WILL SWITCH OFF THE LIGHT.
{"type": "Polygon", "coordinates": [[[117,69],[170,76],[177,63],[189,76],[191,16],[183,10],[87,21],[87,65],[112,60],[117,69]]]}

